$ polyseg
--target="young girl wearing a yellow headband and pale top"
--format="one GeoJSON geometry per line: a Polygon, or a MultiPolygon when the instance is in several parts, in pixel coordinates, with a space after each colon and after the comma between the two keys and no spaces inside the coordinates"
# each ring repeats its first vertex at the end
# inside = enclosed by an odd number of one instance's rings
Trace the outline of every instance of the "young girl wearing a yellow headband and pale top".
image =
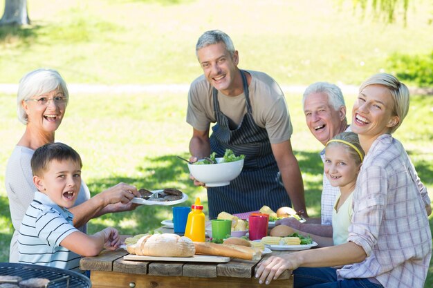
{"type": "Polygon", "coordinates": [[[347,229],[353,213],[352,192],[355,190],[356,178],[364,155],[358,135],[353,132],[340,133],[326,143],[324,172],[331,185],[340,188],[340,193],[335,198],[332,213],[332,238],[308,233],[320,247],[347,242],[349,236],[347,229]]]}

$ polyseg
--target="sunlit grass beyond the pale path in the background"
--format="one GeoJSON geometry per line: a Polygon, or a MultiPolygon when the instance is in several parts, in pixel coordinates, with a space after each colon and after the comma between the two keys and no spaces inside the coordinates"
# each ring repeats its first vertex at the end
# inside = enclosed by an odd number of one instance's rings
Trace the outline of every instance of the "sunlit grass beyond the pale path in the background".
{"type": "Polygon", "coordinates": [[[28,1],[32,29],[0,28],[0,71],[8,71],[0,81],[48,66],[68,83],[190,83],[201,73],[196,40],[216,28],[232,37],[241,67],[269,71],[279,84],[358,85],[389,70],[394,52],[431,52],[428,1],[411,1],[406,28],[337,2],[28,1]]]}

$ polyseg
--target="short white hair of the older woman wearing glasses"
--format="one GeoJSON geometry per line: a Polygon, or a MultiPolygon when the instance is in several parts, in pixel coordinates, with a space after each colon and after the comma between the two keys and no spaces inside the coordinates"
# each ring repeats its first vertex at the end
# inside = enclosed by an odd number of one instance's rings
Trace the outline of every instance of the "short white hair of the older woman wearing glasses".
{"type": "Polygon", "coordinates": [[[19,121],[27,125],[27,114],[22,106],[23,101],[59,88],[62,88],[63,94],[67,99],[66,105],[68,105],[69,94],[66,82],[56,70],[39,68],[24,75],[24,77],[19,80],[17,93],[17,113],[19,121]]]}

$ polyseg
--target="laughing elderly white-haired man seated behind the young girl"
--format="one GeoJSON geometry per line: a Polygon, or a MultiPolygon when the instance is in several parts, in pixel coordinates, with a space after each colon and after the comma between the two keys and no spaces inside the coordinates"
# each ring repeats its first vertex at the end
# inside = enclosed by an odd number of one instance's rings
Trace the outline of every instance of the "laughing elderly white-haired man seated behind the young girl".
{"type": "MultiPolygon", "coordinates": [[[[316,82],[308,86],[302,98],[306,125],[313,136],[324,146],[335,135],[350,131],[346,119],[346,104],[338,86],[327,82],[316,82]]],[[[324,161],[324,150],[320,153],[324,161]]],[[[280,220],[277,224],[286,224],[295,229],[332,236],[332,209],[338,187],[333,187],[323,175],[322,212],[320,219],[309,218],[300,223],[294,218],[280,220]]]]}

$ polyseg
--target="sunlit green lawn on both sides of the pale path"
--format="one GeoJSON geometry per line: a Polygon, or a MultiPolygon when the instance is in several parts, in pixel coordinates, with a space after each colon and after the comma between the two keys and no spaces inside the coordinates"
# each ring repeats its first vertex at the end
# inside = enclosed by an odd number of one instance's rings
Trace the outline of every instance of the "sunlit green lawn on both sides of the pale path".
{"type": "MultiPolygon", "coordinates": [[[[362,21],[347,1],[335,6],[336,1],[265,5],[223,0],[212,8],[208,1],[28,2],[33,26],[0,28],[1,83],[17,84],[28,70],[46,66],[58,69],[68,84],[188,84],[201,73],[194,55],[196,39],[214,28],[232,36],[241,68],[263,70],[282,86],[313,81],[358,86],[373,73],[391,72],[387,57],[393,52],[417,54],[433,48],[427,41],[433,26],[427,24],[426,1],[409,10],[407,28],[369,17],[362,21]]],[[[16,118],[15,97],[0,93],[0,261],[8,260],[12,234],[3,184],[6,162],[24,132],[16,118]]],[[[350,110],[356,95],[345,97],[350,110]]],[[[318,216],[322,147],[306,128],[301,93],[286,93],[286,99],[308,213],[318,216]]],[[[189,156],[192,129],[185,123],[186,106],[186,93],[73,94],[56,140],[82,155],[83,177],[93,195],[118,182],[147,189],[174,186],[190,196],[187,204],[201,197],[206,210],[205,189],[192,185],[187,166],[175,157],[189,156]]],[[[433,199],[432,122],[433,97],[412,96],[409,115],[395,137],[433,199]]],[[[145,233],[169,218],[170,207],[138,207],[92,220],[89,231],[113,226],[122,233],[145,233]]],[[[425,287],[433,287],[433,265],[425,287]]]]}

